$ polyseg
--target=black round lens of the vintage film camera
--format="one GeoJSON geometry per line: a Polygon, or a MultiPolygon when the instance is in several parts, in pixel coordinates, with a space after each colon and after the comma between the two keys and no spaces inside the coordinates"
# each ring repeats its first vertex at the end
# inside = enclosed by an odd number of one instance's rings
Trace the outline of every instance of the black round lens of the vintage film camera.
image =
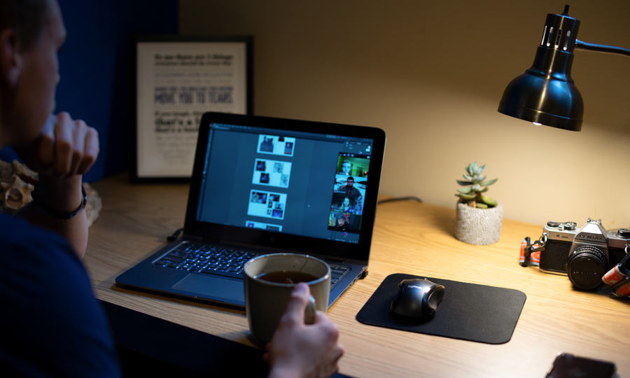
{"type": "Polygon", "coordinates": [[[576,288],[591,290],[600,285],[607,265],[608,258],[600,248],[580,246],[569,256],[567,274],[576,288]]]}

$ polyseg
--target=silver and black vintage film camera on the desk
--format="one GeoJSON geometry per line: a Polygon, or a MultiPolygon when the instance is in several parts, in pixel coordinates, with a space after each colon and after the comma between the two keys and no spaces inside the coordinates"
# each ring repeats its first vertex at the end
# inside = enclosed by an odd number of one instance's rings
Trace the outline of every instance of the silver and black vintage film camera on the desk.
{"type": "Polygon", "coordinates": [[[630,230],[606,231],[601,219],[591,218],[580,229],[576,225],[549,221],[542,228],[547,243],[540,252],[540,270],[567,274],[576,288],[589,290],[599,286],[603,274],[622,260],[630,230]]]}

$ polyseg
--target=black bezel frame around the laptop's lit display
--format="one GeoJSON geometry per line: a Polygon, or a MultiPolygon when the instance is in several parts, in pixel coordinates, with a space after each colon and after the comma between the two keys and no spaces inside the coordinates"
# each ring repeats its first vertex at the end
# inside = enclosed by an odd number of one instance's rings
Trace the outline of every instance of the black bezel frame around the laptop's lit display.
{"type": "Polygon", "coordinates": [[[385,148],[385,132],[377,127],[341,125],[307,120],[291,120],[262,116],[247,116],[231,113],[204,113],[197,138],[197,150],[193,175],[188,193],[188,207],[184,233],[188,236],[201,237],[204,241],[215,241],[228,244],[239,244],[251,248],[272,248],[285,251],[296,251],[323,255],[328,258],[351,259],[367,262],[370,255],[374,218],[378,200],[379,182],[385,148]],[[283,232],[271,232],[257,228],[245,228],[218,223],[207,223],[197,220],[197,202],[202,190],[202,174],[209,143],[207,143],[210,125],[213,123],[313,132],[316,134],[332,134],[342,137],[372,139],[372,155],[370,157],[370,174],[367,176],[363,218],[358,243],[319,239],[303,235],[283,232]]]}

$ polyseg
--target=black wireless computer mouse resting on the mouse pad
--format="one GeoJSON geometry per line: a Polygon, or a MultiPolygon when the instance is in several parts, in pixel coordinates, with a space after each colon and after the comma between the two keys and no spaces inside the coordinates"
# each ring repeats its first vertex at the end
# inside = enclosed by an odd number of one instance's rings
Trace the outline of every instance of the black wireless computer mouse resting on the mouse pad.
{"type": "Polygon", "coordinates": [[[444,297],[444,286],[428,279],[403,279],[398,283],[398,295],[390,311],[407,318],[428,321],[435,316],[444,297]]]}

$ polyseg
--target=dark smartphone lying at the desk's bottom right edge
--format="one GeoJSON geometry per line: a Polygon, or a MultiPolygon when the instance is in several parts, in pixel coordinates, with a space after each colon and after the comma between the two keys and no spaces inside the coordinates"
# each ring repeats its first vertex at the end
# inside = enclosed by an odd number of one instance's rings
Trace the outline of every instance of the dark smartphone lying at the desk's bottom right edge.
{"type": "Polygon", "coordinates": [[[546,378],[612,378],[617,366],[614,363],[560,353],[546,378]]]}

